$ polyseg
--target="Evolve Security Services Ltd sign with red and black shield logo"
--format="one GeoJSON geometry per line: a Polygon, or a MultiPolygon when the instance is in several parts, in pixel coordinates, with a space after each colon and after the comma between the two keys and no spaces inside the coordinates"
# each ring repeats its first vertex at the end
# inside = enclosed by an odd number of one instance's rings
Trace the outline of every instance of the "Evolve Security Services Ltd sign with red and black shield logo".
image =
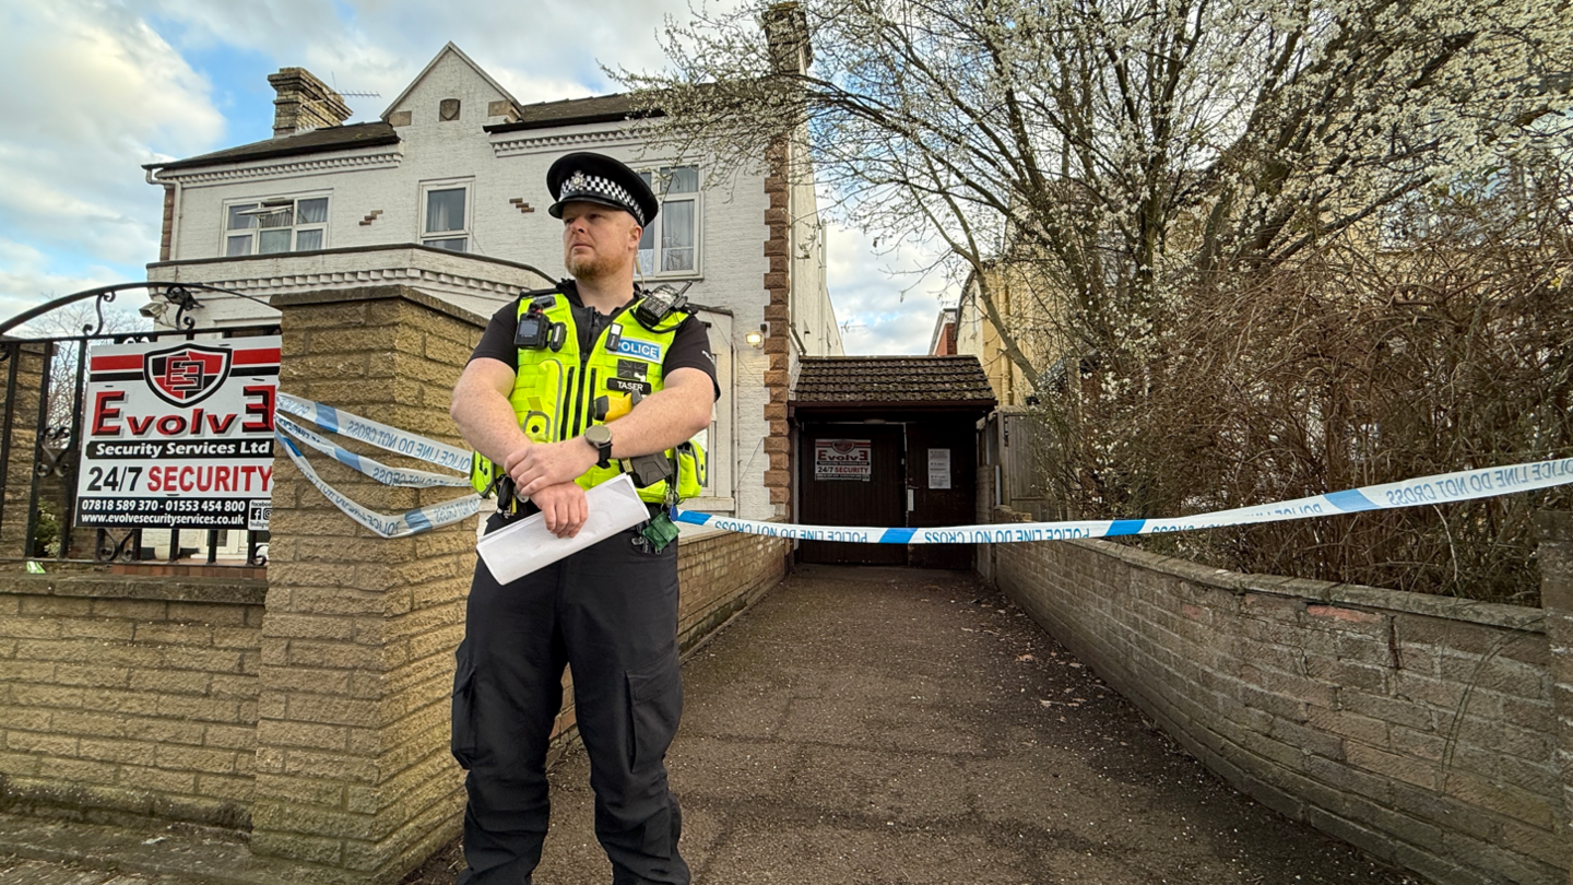
{"type": "Polygon", "coordinates": [[[88,351],[79,526],[267,529],[280,339],[88,351]]]}

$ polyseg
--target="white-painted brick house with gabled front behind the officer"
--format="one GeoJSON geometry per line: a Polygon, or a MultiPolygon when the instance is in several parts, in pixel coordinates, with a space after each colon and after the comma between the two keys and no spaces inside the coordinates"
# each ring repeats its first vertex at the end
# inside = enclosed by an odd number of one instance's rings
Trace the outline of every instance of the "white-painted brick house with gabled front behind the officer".
{"type": "MultiPolygon", "coordinates": [[[[772,16],[769,33],[796,39],[785,57],[805,68],[801,11],[772,16]]],[[[165,187],[149,280],[209,283],[261,302],[401,283],[489,317],[519,290],[566,276],[562,222],[546,213],[552,161],[582,150],[615,156],[664,197],[642,244],[645,283],[689,285],[716,350],[711,488],[692,505],[786,513],[790,454],[764,441],[785,441],[798,359],[842,353],[812,181],[788,181],[783,165],[713,183],[703,162],[648,150],[626,98],[519,104],[451,43],[373,123],[343,124],[343,99],[300,68],[269,82],[278,91],[272,139],[148,167],[148,181],[165,187]],[[749,340],[761,331],[763,342],[749,340]]],[[[274,317],[233,296],[206,298],[197,312],[209,328],[274,317]]]]}

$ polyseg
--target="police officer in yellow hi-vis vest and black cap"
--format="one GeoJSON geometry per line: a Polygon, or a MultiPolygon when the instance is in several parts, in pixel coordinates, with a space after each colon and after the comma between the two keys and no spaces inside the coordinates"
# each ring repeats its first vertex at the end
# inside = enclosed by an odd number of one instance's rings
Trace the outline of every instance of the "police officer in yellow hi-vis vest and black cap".
{"type": "Polygon", "coordinates": [[[695,493],[687,441],[709,427],[720,391],[703,323],[634,283],[659,209],[650,186],[612,157],[576,153],[552,164],[547,187],[573,280],[499,310],[453,389],[475,482],[502,491],[486,529],[541,512],[573,537],[585,488],[640,465],[651,523],[507,586],[477,564],[453,691],[453,754],[469,768],[458,883],[529,883],[540,863],[565,665],[612,882],[686,883],[664,764],[683,688],[676,532],[662,505],[695,493]]]}

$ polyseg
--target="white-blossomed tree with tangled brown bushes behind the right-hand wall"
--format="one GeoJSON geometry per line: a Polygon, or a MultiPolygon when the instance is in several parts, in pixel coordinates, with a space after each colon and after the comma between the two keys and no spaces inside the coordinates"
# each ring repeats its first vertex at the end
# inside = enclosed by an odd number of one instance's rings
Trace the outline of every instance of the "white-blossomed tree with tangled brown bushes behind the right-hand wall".
{"type": "MultiPolygon", "coordinates": [[[[665,44],[620,74],[653,137],[801,156],[849,224],[947,247],[1066,512],[1573,454],[1565,0],[807,0],[665,44]],[[805,72],[758,27],[799,8],[805,72]]],[[[1155,543],[1510,598],[1557,494],[1155,543]]]]}

